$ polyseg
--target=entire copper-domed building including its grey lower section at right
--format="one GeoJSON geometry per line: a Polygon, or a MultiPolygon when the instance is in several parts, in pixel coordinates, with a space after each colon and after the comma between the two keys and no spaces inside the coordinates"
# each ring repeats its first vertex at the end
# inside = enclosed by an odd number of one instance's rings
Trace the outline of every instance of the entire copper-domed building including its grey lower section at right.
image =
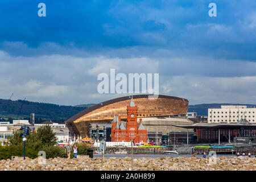
{"type": "MultiPolygon", "coordinates": [[[[167,133],[170,133],[170,131],[184,130],[183,128],[172,126],[174,124],[193,124],[186,117],[188,110],[187,99],[164,95],[150,99],[148,96],[148,94],[134,95],[133,101],[138,107],[137,121],[139,122],[142,119],[144,129],[150,132],[151,135],[158,132],[168,135],[167,133]]],[[[65,123],[73,139],[92,137],[95,131],[93,125],[111,125],[114,116],[118,116],[120,121],[127,122],[127,106],[130,105],[130,101],[131,96],[125,96],[101,102],[82,110],[65,123]]],[[[107,126],[106,129],[108,129],[107,126]]]]}

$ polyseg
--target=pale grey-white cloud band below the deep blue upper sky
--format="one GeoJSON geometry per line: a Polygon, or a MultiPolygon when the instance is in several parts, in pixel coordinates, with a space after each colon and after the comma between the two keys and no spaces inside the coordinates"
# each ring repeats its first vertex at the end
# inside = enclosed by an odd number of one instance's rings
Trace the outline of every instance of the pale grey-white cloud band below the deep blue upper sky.
{"type": "Polygon", "coordinates": [[[159,73],[160,94],[184,97],[191,104],[256,102],[255,62],[193,56],[189,50],[180,53],[155,49],[154,56],[135,56],[142,49],[121,49],[124,54],[134,54],[130,57],[26,57],[0,51],[0,94],[2,98],[14,93],[14,100],[26,97],[30,101],[64,105],[98,103],[124,96],[97,93],[97,75],[109,74],[110,68],[115,68],[116,74],[159,73]]]}

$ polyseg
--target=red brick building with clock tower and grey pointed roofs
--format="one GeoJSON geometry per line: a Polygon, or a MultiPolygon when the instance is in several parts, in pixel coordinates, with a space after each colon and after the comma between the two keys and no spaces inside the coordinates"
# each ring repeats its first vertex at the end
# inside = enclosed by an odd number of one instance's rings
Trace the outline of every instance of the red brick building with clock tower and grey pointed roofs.
{"type": "Polygon", "coordinates": [[[121,118],[114,116],[112,121],[112,142],[130,142],[133,139],[134,144],[147,142],[147,130],[142,125],[142,119],[137,122],[138,108],[135,106],[133,98],[130,105],[127,106],[127,122],[121,122],[121,118]]]}

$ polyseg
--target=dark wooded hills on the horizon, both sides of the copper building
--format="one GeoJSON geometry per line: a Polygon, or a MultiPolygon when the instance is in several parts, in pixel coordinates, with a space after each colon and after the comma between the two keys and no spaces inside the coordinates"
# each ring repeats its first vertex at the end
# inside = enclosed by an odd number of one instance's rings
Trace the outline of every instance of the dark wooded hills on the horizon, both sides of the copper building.
{"type": "MultiPolygon", "coordinates": [[[[36,122],[44,122],[51,119],[55,122],[64,122],[80,111],[95,104],[84,104],[77,106],[63,106],[57,104],[46,104],[42,102],[30,102],[24,100],[0,99],[0,118],[29,119],[31,113],[35,113],[36,122]]],[[[246,105],[251,104],[197,104],[189,105],[188,112],[195,111],[197,115],[208,115],[208,108],[220,108],[221,105],[246,105]]]]}

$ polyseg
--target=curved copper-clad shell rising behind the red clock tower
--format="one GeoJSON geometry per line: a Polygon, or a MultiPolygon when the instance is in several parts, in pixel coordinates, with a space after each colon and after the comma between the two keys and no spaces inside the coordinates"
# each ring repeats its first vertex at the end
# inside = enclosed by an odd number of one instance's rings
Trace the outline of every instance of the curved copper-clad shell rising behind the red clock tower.
{"type": "MultiPolygon", "coordinates": [[[[86,137],[89,123],[111,123],[114,115],[126,120],[126,106],[130,104],[130,100],[131,96],[125,96],[88,107],[69,118],[66,125],[72,135],[86,137]]],[[[144,94],[133,96],[133,100],[138,106],[138,118],[185,116],[188,110],[188,100],[185,98],[159,95],[156,99],[148,99],[148,95],[144,94]]]]}

